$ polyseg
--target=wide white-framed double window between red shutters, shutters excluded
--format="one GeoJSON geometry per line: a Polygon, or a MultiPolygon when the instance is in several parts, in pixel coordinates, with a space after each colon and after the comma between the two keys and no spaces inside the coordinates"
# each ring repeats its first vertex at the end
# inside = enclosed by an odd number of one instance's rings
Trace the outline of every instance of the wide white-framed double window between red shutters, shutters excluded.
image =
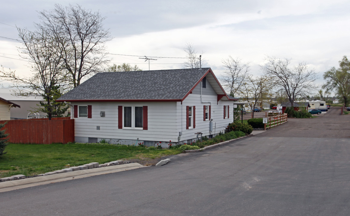
{"type": "Polygon", "coordinates": [[[123,107],[123,126],[124,128],[143,127],[143,110],[142,106],[124,106],[123,107]]]}

